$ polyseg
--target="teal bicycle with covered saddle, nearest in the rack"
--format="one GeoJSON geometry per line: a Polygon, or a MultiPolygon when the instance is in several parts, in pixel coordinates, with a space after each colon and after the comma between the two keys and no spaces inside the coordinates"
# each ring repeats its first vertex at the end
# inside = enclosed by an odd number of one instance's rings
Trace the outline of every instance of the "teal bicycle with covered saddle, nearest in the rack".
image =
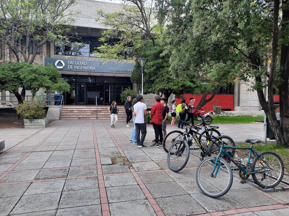
{"type": "Polygon", "coordinates": [[[239,168],[239,176],[248,179],[250,175],[253,181],[261,188],[273,188],[277,186],[284,175],[283,161],[279,155],[272,151],[263,151],[258,154],[253,149],[254,143],[260,143],[259,138],[246,139],[251,143],[250,147],[224,146],[221,143],[218,156],[208,157],[203,160],[196,172],[196,180],[200,190],[208,197],[221,197],[226,194],[233,184],[233,172],[230,165],[221,156],[225,155],[239,168]],[[240,161],[231,157],[225,149],[249,150],[248,162],[243,166],[240,161]],[[251,154],[255,156],[250,163],[251,154]]]}

